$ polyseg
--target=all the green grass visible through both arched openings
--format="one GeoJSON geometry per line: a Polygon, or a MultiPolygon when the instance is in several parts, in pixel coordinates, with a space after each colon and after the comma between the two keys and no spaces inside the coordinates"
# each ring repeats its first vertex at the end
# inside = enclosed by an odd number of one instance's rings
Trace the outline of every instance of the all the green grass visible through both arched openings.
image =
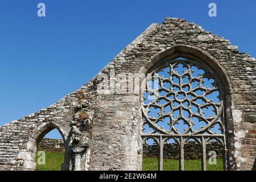
{"type": "MultiPolygon", "coordinates": [[[[36,171],[60,171],[64,161],[64,152],[46,151],[46,164],[36,165],[36,171]]],[[[36,162],[38,155],[36,154],[36,162]]],[[[143,171],[157,171],[157,158],[143,158],[143,171]]],[[[217,165],[207,166],[208,171],[223,171],[223,160],[217,159],[217,165]]],[[[164,171],[178,171],[178,159],[164,159],[164,171]]],[[[185,160],[185,171],[201,171],[201,160],[185,160]]]]}

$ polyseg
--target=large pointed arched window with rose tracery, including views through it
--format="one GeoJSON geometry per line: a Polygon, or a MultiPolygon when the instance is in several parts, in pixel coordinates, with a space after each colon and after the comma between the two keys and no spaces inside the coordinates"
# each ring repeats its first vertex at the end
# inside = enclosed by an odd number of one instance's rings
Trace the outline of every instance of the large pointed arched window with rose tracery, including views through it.
{"type": "Polygon", "coordinates": [[[196,170],[188,167],[196,160],[200,166],[197,169],[227,169],[228,85],[222,84],[222,73],[218,75],[205,61],[189,55],[190,49],[178,46],[169,50],[172,56],[162,52],[158,63],[155,60],[151,68],[145,67],[148,75],[141,97],[143,169],[150,168],[147,165],[150,166],[152,156],[157,158],[159,170],[196,170]],[[166,158],[176,166],[166,167],[166,158]],[[216,163],[218,167],[209,166],[216,163]]]}

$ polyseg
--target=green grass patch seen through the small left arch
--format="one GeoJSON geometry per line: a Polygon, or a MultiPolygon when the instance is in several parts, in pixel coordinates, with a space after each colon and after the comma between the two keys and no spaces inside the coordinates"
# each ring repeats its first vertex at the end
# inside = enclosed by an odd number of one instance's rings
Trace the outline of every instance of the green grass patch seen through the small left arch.
{"type": "Polygon", "coordinates": [[[60,171],[64,162],[64,152],[46,151],[46,164],[38,164],[38,152],[36,152],[36,171],[60,171]]]}

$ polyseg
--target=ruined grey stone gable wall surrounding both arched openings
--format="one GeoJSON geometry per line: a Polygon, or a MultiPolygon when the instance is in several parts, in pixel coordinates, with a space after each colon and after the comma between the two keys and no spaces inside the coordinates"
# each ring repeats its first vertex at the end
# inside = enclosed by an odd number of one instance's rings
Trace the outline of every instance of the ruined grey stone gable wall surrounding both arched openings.
{"type": "Polygon", "coordinates": [[[38,143],[58,129],[65,148],[63,170],[141,170],[141,90],[128,89],[117,78],[128,77],[135,88],[136,74],[178,57],[201,61],[220,77],[227,169],[256,169],[255,59],[229,40],[180,18],[152,24],[82,88],[0,127],[0,169],[34,170],[38,143]],[[99,92],[100,86],[110,91],[99,92]],[[120,86],[127,92],[117,92],[120,86]]]}

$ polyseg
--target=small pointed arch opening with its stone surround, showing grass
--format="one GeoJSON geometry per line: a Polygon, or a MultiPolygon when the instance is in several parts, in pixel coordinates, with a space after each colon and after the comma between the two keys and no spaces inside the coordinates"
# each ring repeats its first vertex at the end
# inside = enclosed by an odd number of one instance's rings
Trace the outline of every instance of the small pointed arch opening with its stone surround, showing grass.
{"type": "Polygon", "coordinates": [[[52,122],[43,124],[34,138],[35,142],[32,146],[34,154],[32,156],[34,156],[36,171],[68,170],[67,139],[57,125],[52,122]]]}

